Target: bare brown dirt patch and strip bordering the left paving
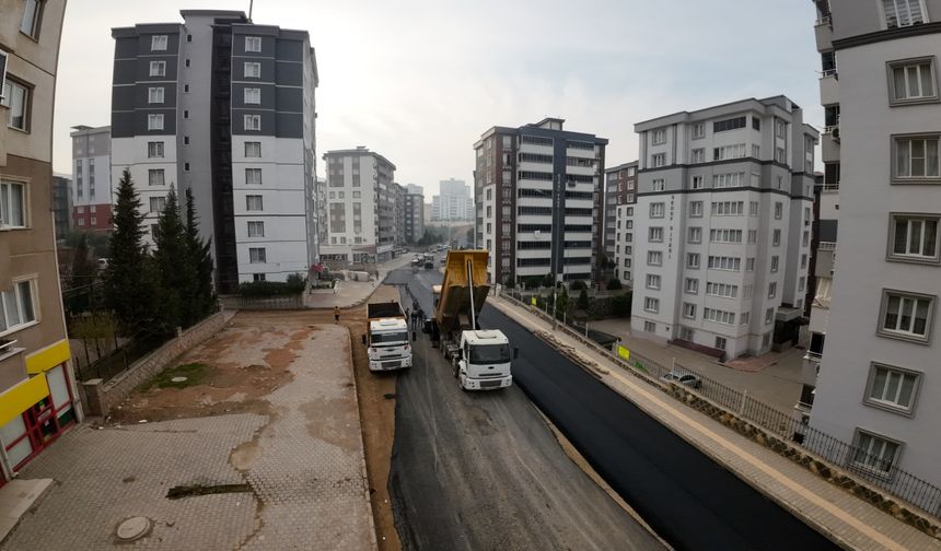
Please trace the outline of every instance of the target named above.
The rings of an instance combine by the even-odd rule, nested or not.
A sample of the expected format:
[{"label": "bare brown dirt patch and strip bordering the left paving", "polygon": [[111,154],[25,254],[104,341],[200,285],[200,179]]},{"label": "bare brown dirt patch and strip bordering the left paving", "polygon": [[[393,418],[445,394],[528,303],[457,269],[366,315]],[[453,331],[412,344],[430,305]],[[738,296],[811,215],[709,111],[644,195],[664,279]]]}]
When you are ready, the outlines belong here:
[{"label": "bare brown dirt patch and strip bordering the left paving", "polygon": [[[398,300],[394,286],[381,285],[373,301]],[[284,319],[310,324],[291,331],[279,328]],[[171,368],[202,364],[197,384],[183,383],[182,388],[153,384],[132,394],[112,422],[136,423],[140,420],[161,421],[176,418],[208,417],[226,413],[254,412],[269,414],[263,398],[291,380],[287,366],[297,357],[301,342],[316,330],[314,324],[333,323],[329,309],[306,312],[253,312],[236,315],[224,337],[217,337],[194,348],[174,362]],[[340,324],[350,331],[356,370],[360,418],[363,427],[370,499],[380,551],[399,551],[402,543],[395,531],[392,504],[388,499],[388,470],[395,437],[396,375],[373,374],[369,371],[365,347],[361,344],[365,329],[365,306],[341,310]],[[279,345],[257,349],[259,335],[266,342]],[[191,372],[191,370],[190,370]],[[187,373],[190,373],[187,372]],[[163,377],[162,380],[169,380]]]}]

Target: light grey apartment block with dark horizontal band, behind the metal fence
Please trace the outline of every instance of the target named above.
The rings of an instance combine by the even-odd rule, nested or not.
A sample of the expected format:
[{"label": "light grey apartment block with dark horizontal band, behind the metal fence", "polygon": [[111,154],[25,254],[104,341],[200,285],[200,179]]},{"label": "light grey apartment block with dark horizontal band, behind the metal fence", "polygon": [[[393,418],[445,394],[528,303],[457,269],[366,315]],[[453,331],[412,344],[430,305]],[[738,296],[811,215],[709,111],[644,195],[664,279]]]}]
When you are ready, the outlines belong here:
[{"label": "light grey apartment block with dark horizontal band, behind the metal fence", "polygon": [[639,122],[631,329],[725,357],[795,342],[817,131],[785,96]]}]

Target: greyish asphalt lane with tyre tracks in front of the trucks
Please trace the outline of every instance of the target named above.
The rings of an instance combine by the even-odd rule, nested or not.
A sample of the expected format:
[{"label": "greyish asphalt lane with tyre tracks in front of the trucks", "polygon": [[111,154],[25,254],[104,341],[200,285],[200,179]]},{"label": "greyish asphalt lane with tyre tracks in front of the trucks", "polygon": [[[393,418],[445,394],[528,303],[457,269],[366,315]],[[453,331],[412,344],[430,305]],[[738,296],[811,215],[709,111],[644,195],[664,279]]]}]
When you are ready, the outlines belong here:
[{"label": "greyish asphalt lane with tyre tracks in front of the trucks", "polygon": [[[418,290],[430,312],[429,289]],[[398,377],[390,472],[406,550],[663,549],[566,456],[519,387],[464,392],[425,335],[414,352]]]}]

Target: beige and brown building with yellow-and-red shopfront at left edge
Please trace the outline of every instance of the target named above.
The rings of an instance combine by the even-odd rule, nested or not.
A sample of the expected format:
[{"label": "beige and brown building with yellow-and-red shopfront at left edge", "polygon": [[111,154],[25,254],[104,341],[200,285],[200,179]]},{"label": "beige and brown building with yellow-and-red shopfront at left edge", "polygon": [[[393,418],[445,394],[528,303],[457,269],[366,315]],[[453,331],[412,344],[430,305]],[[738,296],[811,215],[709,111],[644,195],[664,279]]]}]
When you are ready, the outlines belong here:
[{"label": "beige and brown building with yellow-and-red shopfront at left edge", "polygon": [[0,17],[0,485],[82,419],[51,212],[65,10],[14,0]]}]

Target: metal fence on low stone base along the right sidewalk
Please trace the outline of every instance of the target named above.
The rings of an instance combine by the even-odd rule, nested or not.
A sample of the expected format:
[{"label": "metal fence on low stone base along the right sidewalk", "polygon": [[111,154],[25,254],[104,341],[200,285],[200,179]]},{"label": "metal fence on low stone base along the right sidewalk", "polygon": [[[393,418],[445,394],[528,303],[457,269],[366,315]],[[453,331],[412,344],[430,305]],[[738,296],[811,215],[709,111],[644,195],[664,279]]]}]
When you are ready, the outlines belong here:
[{"label": "metal fence on low stone base along the right sidewalk", "polygon": [[[551,308],[548,305],[542,309],[533,307],[531,297],[525,296],[516,290],[503,290],[501,296],[511,298],[511,304],[522,306],[535,313],[542,319],[553,323]],[[678,376],[693,375],[695,377],[694,382],[686,385],[692,391],[707,398],[741,419],[747,420],[785,439],[798,444],[827,462],[839,466],[841,469],[858,476],[871,485],[878,486],[930,515],[941,517],[941,489],[908,471],[899,469],[891,460],[870,454],[859,445],[848,444],[810,426],[806,423],[806,417],[800,414],[800,412],[782,412],[752,398],[748,396],[747,390],[737,390],[725,386],[675,361],[669,367],[663,366],[632,350],[629,353],[629,360],[625,360],[618,356],[616,345],[612,349],[599,345],[585,337],[583,329],[572,328],[559,319],[556,321],[559,323],[558,328],[564,332],[594,348],[596,352],[611,355],[615,363],[621,367],[638,372],[650,384],[659,385],[661,378],[669,373]]]}]

